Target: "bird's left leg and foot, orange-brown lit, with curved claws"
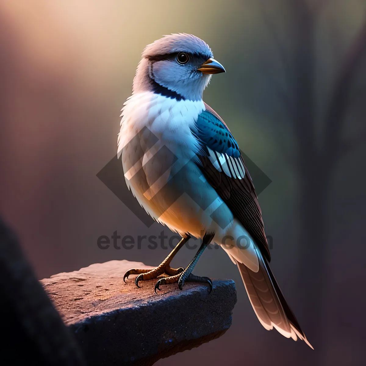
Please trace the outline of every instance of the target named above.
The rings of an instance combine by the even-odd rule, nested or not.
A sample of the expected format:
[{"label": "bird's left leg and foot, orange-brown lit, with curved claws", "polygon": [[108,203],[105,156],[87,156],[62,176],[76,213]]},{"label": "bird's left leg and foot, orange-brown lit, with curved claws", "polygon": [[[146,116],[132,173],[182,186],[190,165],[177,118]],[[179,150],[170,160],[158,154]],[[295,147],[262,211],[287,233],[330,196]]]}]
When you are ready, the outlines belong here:
[{"label": "bird's left leg and foot, orange-brown lit, with curved claws", "polygon": [[182,246],[188,241],[188,239],[190,237],[191,237],[190,235],[183,237],[180,240],[180,242],[175,246],[175,248],[171,251],[171,253],[168,255],[168,257],[165,258],[164,261],[160,265],[158,265],[156,268],[154,268],[154,269],[132,268],[124,274],[123,281],[126,282],[126,278],[128,278],[128,276],[130,276],[130,275],[139,275],[135,278],[135,284],[137,285],[137,287],[140,287],[138,285],[139,281],[152,280],[154,278],[157,278],[160,275],[163,275],[163,273],[166,273],[169,276],[174,276],[174,275],[177,275],[178,273],[183,272],[184,268],[182,268],[182,267],[177,268],[177,269],[171,268],[170,262],[172,261],[174,256],[178,253],[179,249],[182,248]]}]

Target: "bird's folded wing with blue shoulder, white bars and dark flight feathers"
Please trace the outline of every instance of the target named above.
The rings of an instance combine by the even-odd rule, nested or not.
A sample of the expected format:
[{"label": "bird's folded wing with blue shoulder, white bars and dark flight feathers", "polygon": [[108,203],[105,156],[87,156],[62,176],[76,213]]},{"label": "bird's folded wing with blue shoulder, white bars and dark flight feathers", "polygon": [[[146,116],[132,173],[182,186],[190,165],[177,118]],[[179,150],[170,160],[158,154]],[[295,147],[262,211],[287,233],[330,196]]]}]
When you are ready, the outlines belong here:
[{"label": "bird's folded wing with blue shoulder, white bars and dark flight feathers", "polygon": [[201,143],[199,167],[270,261],[258,197],[238,144],[220,116],[207,104],[205,107],[192,131]]}]

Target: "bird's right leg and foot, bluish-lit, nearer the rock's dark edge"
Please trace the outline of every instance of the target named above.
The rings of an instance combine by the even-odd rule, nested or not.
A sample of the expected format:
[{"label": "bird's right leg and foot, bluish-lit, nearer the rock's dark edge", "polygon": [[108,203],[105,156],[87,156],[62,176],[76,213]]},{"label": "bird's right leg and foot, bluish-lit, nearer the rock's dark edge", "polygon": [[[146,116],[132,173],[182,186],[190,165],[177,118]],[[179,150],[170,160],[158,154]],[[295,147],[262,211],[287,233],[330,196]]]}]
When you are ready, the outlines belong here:
[{"label": "bird's right leg and foot, bluish-lit, nearer the rock's dark edge", "polygon": [[200,276],[192,275],[192,271],[193,271],[194,266],[198,262],[198,258],[201,256],[201,254],[206,249],[208,244],[211,243],[214,235],[215,235],[214,233],[208,234],[206,232],[206,234],[203,236],[201,246],[199,247],[199,249],[198,249],[196,255],[194,256],[194,258],[192,259],[191,263],[188,264],[188,267],[182,273],[177,273],[176,275],[170,276],[170,277],[163,277],[160,280],[158,280],[155,285],[155,288],[154,288],[155,293],[157,294],[156,290],[160,290],[160,288],[159,288],[160,285],[165,285],[165,284],[170,284],[170,283],[175,283],[175,282],[178,282],[179,289],[183,290],[183,286],[186,281],[208,283],[210,285],[210,292],[211,292],[212,291],[212,281],[208,277],[200,277]]}]

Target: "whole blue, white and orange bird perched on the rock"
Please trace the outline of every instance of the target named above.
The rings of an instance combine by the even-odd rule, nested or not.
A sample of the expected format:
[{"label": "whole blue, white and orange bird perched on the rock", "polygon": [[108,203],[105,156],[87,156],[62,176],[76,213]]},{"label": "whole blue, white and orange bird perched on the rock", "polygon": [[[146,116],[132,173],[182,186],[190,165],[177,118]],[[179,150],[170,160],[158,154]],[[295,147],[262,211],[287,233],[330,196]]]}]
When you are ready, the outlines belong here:
[{"label": "whole blue, white and orange bird perched on the rock", "polygon": [[[281,335],[311,344],[269,267],[270,252],[253,181],[224,120],[202,100],[213,74],[226,72],[205,41],[187,33],[146,46],[122,108],[117,157],[127,187],[146,212],[182,239],[152,270],[132,268],[135,284],[188,281],[209,244],[221,246],[238,267],[259,322]],[[202,240],[186,267],[170,262],[191,237]],[[161,275],[164,275],[163,277]],[[158,278],[159,277],[159,278]]]}]

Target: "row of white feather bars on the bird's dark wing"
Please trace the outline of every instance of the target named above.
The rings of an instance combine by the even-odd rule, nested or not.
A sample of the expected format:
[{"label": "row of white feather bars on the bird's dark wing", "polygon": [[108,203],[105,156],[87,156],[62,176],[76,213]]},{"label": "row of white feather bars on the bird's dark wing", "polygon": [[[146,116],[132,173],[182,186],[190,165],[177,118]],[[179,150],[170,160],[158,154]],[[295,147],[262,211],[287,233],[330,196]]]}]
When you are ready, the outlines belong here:
[{"label": "row of white feather bars on the bird's dark wing", "polygon": [[207,149],[209,152],[209,159],[217,171],[224,172],[230,178],[244,178],[245,169],[242,157],[234,158],[228,156],[228,154],[221,154],[211,150],[209,147]]}]

